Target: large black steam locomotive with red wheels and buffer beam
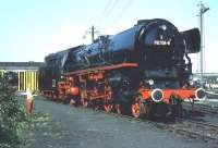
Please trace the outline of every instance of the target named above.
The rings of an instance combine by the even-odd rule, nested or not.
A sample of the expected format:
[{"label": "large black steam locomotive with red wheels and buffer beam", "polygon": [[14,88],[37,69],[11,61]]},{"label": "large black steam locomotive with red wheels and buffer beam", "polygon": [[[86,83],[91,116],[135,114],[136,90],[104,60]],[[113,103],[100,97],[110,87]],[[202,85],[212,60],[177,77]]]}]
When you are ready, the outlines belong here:
[{"label": "large black steam locomotive with red wheels and buffer beam", "polygon": [[184,99],[204,99],[192,83],[189,53],[199,51],[199,32],[179,32],[161,18],[141,20],[132,28],[101,36],[45,58],[39,89],[50,99],[107,112],[182,114]]}]

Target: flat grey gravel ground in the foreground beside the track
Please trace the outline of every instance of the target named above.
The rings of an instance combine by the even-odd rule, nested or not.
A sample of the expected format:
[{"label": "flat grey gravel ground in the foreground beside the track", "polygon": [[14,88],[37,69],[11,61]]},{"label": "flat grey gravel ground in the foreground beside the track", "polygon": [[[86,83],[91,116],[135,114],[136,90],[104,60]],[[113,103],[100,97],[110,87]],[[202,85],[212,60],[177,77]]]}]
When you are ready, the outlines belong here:
[{"label": "flat grey gravel ground in the foreground beside the track", "polygon": [[34,99],[33,123],[26,133],[28,148],[207,148],[197,139],[182,137],[156,126]]}]

